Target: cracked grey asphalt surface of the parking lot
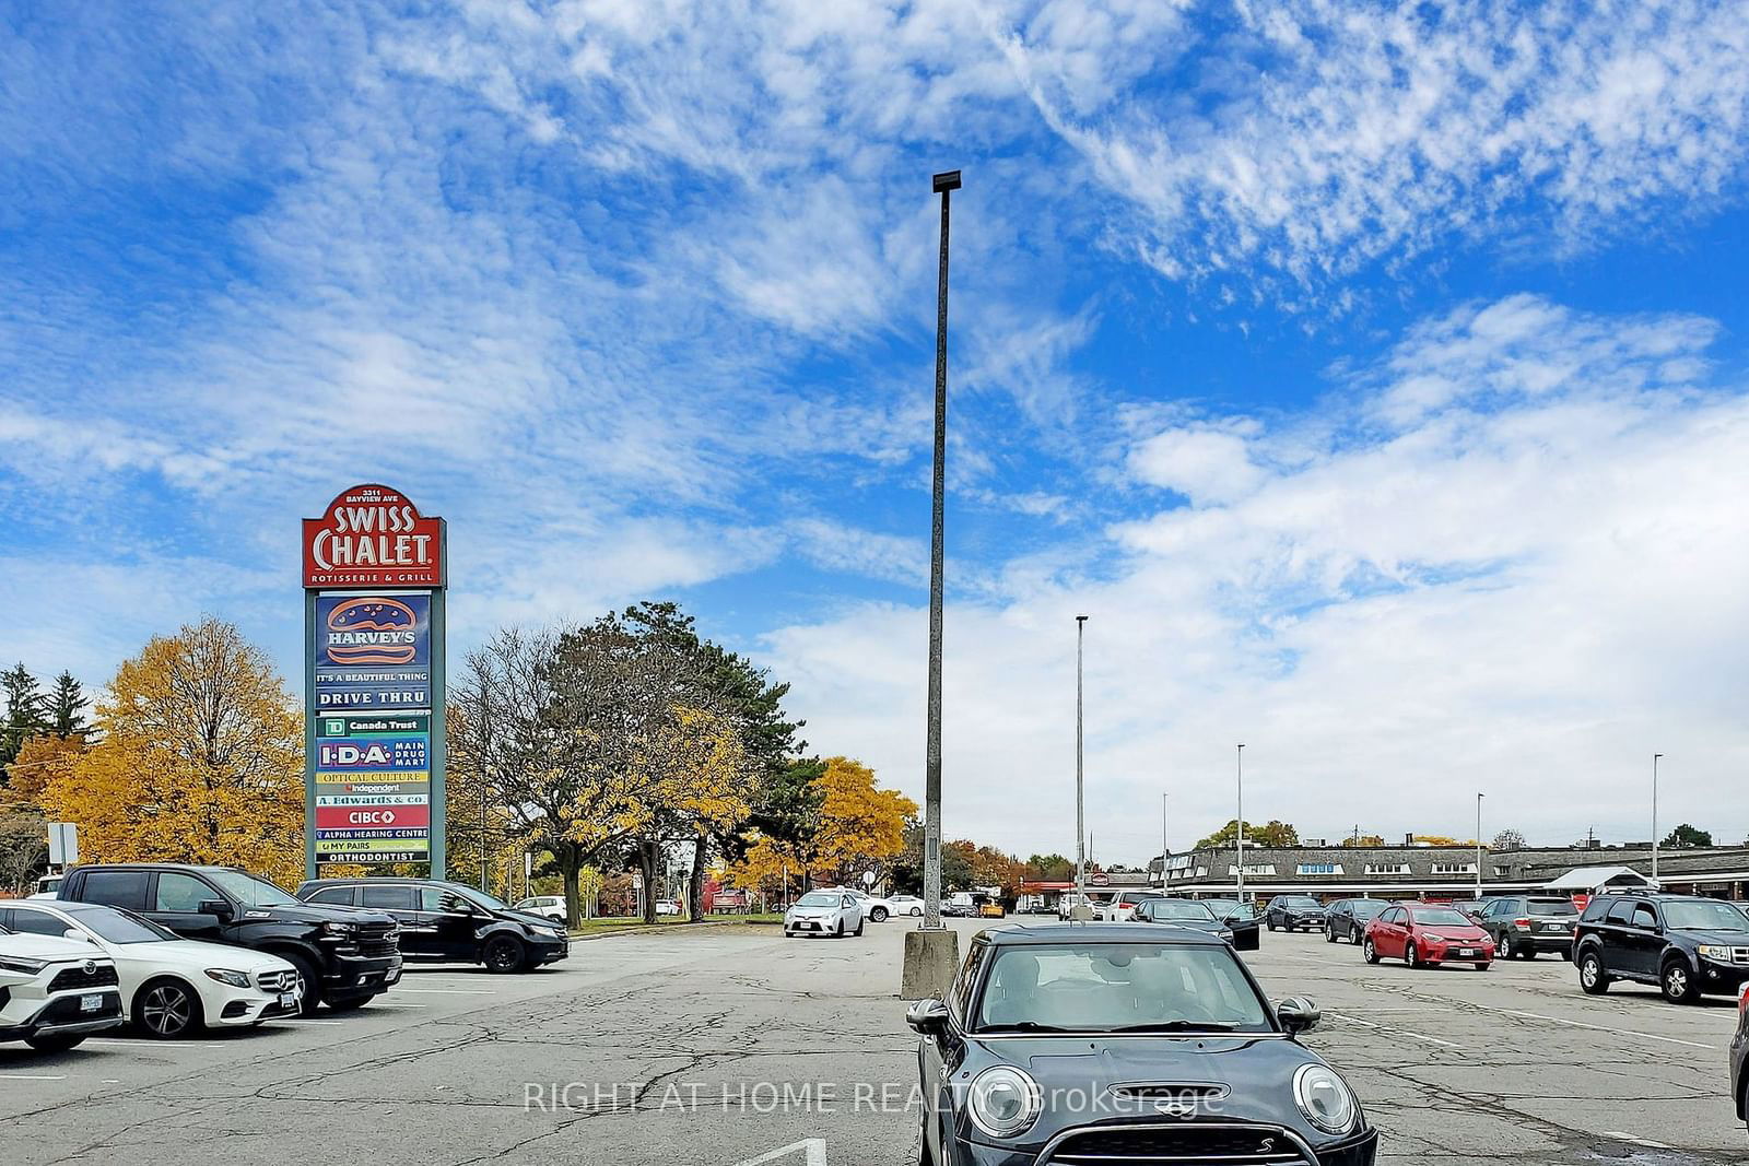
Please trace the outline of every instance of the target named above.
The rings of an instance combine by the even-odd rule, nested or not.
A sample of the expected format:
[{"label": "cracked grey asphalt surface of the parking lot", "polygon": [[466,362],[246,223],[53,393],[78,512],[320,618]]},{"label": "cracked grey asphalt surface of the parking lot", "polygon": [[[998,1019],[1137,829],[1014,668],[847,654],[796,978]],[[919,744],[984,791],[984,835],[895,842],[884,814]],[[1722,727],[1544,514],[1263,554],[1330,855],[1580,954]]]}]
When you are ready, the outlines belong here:
[{"label": "cracked grey asphalt surface of the parking lot", "polygon": [[[861,939],[675,928],[518,977],[415,968],[350,1016],[187,1044],[0,1045],[0,1163],[901,1166],[915,1040],[906,923]],[[958,921],[967,935],[972,921]],[[1383,1133],[1382,1163],[1749,1161],[1726,1098],[1730,1002],[1579,993],[1571,965],[1368,967],[1322,937],[1247,960],[1308,995],[1307,1037]]]}]

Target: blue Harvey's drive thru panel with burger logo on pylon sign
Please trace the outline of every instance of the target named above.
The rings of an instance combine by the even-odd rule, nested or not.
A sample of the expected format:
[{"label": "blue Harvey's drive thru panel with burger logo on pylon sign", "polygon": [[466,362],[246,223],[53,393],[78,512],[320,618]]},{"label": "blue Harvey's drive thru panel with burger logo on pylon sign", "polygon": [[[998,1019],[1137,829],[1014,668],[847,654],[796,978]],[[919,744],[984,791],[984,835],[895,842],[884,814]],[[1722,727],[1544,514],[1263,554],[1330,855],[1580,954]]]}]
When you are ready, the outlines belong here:
[{"label": "blue Harvey's drive thru panel with burger logo on pylon sign", "polygon": [[318,711],[430,708],[432,594],[318,594],[315,657]]}]

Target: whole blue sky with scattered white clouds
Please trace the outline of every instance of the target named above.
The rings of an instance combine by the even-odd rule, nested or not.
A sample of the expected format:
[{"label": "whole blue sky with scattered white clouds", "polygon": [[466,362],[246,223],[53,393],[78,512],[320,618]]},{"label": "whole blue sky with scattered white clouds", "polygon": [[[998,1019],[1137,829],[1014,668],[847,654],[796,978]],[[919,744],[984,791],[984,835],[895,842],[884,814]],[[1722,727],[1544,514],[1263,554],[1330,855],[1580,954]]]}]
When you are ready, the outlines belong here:
[{"label": "whole blue sky with scattered white clouds", "polygon": [[[679,598],[922,769],[955,196],[948,820],[1109,860],[1749,832],[1744,3],[0,3],[0,656],[217,612],[387,481],[455,649]],[[1411,792],[1411,794],[1406,794]]]}]

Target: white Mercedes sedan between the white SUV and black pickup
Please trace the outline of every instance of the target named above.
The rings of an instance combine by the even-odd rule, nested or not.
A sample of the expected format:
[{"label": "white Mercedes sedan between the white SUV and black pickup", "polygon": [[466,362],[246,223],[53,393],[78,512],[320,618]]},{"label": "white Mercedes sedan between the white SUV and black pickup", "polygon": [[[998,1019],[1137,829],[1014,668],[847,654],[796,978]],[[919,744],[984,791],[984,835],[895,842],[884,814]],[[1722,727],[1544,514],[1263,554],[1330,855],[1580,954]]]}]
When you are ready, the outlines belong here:
[{"label": "white Mercedes sedan between the white SUV and black pickup", "polygon": [[115,965],[122,1014],[159,1040],[203,1028],[297,1016],[297,968],[264,951],[182,939],[129,911],[87,902],[0,904],[0,927],[23,935],[79,935]]}]

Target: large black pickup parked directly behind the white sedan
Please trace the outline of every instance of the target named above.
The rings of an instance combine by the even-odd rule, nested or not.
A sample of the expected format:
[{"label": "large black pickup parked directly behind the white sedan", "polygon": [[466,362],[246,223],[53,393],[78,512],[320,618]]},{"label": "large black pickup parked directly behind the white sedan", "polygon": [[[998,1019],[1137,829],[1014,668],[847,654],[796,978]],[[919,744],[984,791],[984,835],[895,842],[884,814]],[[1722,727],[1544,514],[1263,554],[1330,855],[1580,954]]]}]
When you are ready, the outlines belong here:
[{"label": "large black pickup parked directly behind the white sedan", "polygon": [[324,1002],[357,1009],[401,979],[401,927],[390,916],[303,904],[234,867],[73,867],[59,897],[122,907],[187,939],[271,951],[297,968],[306,1016]]}]

